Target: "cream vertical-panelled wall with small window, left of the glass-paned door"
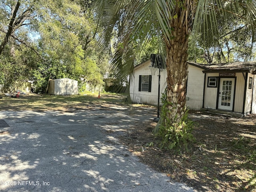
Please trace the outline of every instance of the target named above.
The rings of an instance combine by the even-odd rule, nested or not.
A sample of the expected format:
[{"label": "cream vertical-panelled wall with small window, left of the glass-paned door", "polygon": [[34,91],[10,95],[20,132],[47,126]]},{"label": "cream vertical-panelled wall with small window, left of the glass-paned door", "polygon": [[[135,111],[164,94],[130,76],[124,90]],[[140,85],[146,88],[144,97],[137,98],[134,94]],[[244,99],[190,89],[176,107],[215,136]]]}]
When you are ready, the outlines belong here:
[{"label": "cream vertical-panelled wall with small window, left of the glass-paned door", "polygon": [[216,109],[218,87],[207,87],[208,77],[218,77],[219,73],[206,73],[204,108]]}]

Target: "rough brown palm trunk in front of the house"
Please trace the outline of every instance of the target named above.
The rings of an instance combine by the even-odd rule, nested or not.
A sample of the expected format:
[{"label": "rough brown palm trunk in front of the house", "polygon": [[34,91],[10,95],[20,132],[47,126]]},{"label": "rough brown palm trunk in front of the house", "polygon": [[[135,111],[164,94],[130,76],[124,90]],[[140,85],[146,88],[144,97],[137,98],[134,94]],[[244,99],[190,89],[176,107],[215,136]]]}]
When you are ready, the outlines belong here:
[{"label": "rough brown palm trunk in front of the house", "polygon": [[[182,15],[182,12],[180,13]],[[171,21],[173,38],[167,44],[167,102],[170,122],[180,122],[186,112],[186,84],[188,78],[188,29],[178,15]]]}]

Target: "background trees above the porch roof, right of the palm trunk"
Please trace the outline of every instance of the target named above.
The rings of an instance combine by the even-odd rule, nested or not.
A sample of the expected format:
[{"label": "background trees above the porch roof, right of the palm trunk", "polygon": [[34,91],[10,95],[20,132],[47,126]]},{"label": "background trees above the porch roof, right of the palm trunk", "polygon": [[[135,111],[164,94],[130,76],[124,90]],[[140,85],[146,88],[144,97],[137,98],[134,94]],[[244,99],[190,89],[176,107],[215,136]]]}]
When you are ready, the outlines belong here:
[{"label": "background trees above the porch roof, right of the palm trunk", "polygon": [[[223,25],[219,26],[223,30],[220,30],[220,38],[214,40],[214,46],[209,44],[202,34],[190,36],[189,61],[210,64],[256,59],[256,44],[254,42],[256,34],[250,32],[245,26],[241,27],[243,26],[241,22],[229,26]],[[194,46],[194,41],[196,41],[196,46]]]}]

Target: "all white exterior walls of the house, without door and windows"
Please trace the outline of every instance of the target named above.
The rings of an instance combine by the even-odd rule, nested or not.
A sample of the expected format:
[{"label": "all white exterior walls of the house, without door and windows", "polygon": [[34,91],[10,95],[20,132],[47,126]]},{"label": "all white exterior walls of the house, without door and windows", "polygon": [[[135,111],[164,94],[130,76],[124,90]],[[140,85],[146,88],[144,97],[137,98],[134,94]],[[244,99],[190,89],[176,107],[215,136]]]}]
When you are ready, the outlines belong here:
[{"label": "all white exterior walls of the house, without door and windows", "polygon": [[[151,75],[149,69],[150,60],[144,62],[140,66],[137,66],[134,70],[134,78],[130,84],[130,96],[132,102],[134,103],[144,103],[157,105],[158,101],[158,70],[155,75],[152,75],[152,86],[151,92],[139,91],[139,76],[140,75]],[[220,81],[219,73],[206,73],[204,74],[203,69],[188,65],[188,83],[186,92],[186,105],[190,109],[200,110],[200,108],[216,109],[217,98],[218,98],[218,88],[207,87],[208,77],[217,77],[218,83]],[[166,70],[161,71],[161,81],[160,81],[160,98],[161,93],[164,92],[166,88]],[[205,83],[204,83],[205,75]],[[245,75],[245,73],[244,73]],[[252,111],[252,114],[256,114],[256,78],[255,75],[248,74],[248,82],[246,89],[246,103],[244,106],[244,112],[248,113]],[[252,89],[248,89],[249,77],[253,78]],[[244,104],[244,76],[242,72],[236,73],[236,87],[234,95],[234,112],[243,112]],[[205,85],[205,86],[204,86]],[[203,98],[204,93],[204,98]],[[204,100],[204,106],[202,106]],[[161,101],[160,101],[161,103]]]}]

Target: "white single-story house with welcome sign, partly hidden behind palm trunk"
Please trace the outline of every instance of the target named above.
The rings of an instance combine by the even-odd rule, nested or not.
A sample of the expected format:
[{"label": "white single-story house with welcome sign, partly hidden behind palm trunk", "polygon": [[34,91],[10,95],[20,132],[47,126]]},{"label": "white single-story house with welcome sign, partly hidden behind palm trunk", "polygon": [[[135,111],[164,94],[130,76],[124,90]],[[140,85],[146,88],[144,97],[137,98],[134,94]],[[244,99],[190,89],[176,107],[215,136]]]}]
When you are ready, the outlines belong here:
[{"label": "white single-story house with welcome sign, partly hidden behind palm trunk", "polygon": [[[256,114],[256,61],[221,64],[188,62],[186,104],[201,108]],[[151,74],[151,60],[134,68],[130,96],[134,103],[156,105],[158,71]],[[160,71],[160,92],[166,88],[166,71]],[[161,96],[161,95],[160,95]]]}]

